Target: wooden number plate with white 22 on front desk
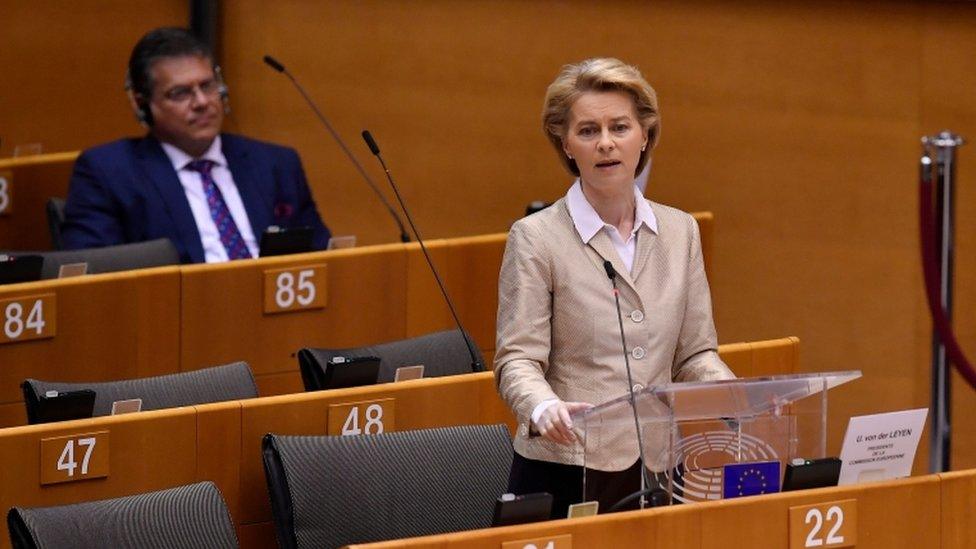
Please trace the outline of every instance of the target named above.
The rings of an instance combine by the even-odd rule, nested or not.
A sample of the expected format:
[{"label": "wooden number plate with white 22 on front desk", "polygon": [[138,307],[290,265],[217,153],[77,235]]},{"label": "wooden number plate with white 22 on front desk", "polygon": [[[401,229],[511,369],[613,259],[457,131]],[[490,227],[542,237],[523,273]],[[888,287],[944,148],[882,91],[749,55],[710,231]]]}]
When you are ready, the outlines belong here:
[{"label": "wooden number plate with white 22 on front desk", "polygon": [[857,500],[790,507],[790,549],[857,545]]}]

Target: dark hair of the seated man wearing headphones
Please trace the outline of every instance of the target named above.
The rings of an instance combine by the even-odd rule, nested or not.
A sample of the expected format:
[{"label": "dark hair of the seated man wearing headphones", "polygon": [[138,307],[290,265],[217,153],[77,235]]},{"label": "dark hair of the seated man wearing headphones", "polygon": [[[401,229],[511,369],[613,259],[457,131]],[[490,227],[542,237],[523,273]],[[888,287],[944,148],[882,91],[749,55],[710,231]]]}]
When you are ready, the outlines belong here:
[{"label": "dark hair of the seated man wearing headphones", "polygon": [[129,85],[132,91],[149,98],[153,81],[150,70],[153,64],[167,57],[199,56],[213,63],[213,52],[188,29],[162,27],[146,33],[129,57]]}]

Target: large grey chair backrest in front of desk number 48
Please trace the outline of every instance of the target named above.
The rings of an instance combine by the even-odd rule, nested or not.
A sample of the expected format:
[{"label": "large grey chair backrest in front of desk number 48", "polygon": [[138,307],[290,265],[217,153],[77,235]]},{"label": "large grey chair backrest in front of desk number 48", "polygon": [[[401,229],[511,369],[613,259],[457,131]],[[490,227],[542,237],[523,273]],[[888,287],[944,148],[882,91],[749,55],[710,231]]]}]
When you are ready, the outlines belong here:
[{"label": "large grey chair backrest in front of desk number 48", "polygon": [[487,528],[512,465],[504,425],[346,437],[269,434],[262,446],[283,549]]}]

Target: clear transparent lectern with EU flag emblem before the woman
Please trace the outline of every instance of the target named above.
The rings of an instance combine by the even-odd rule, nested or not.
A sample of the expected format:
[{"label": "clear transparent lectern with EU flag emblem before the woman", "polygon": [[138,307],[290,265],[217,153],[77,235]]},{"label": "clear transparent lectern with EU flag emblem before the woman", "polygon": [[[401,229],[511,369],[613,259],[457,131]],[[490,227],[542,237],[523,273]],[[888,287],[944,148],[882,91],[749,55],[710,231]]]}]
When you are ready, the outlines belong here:
[{"label": "clear transparent lectern with EU flag emblem before the woman", "polygon": [[[650,478],[671,503],[721,499],[725,465],[779,461],[783,470],[795,458],[825,457],[827,390],[858,377],[848,371],[648,387],[635,394],[634,407],[624,395],[574,416],[584,465],[632,466],[639,425]],[[587,476],[585,499],[592,493]]]}]

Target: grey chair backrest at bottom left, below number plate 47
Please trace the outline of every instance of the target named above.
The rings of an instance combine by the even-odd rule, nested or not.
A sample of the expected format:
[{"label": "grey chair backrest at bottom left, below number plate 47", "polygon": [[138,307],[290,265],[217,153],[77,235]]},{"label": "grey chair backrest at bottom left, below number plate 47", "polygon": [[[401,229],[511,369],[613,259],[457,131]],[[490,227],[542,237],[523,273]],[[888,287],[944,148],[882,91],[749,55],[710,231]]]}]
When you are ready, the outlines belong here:
[{"label": "grey chair backrest at bottom left, below number plate 47", "polygon": [[7,527],[14,549],[238,547],[230,512],[212,482],[57,507],[14,507]]}]

